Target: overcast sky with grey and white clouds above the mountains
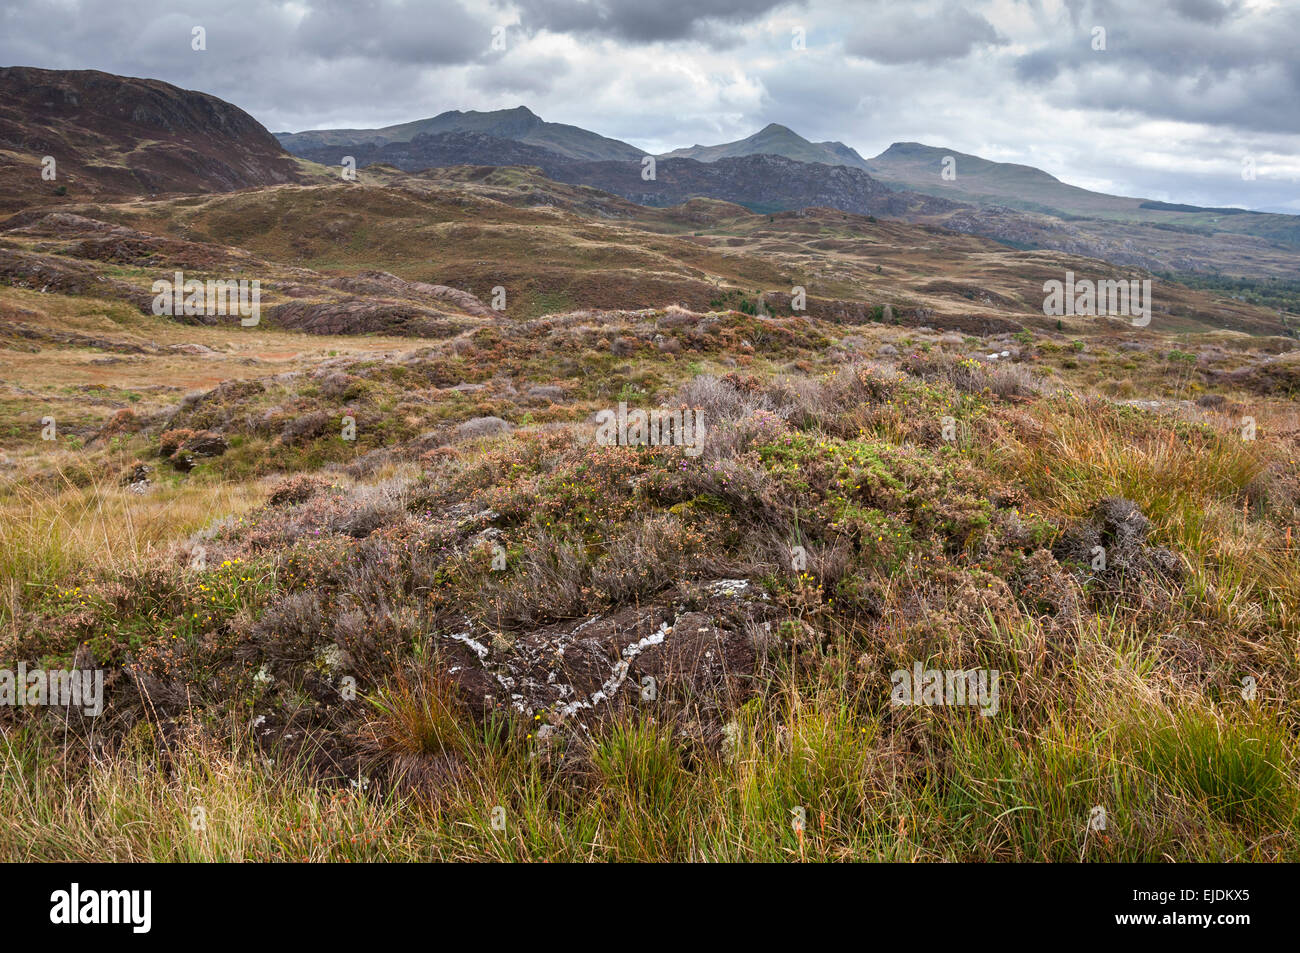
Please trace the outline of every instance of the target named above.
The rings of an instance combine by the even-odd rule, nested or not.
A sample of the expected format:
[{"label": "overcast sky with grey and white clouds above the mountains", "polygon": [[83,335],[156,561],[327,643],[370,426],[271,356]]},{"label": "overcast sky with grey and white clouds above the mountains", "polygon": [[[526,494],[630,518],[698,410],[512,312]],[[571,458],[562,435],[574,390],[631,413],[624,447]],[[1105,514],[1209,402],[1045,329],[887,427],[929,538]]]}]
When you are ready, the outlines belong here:
[{"label": "overcast sky with grey and white clouds above the mountains", "polygon": [[4,0],[0,65],[164,79],[272,131],[523,104],[663,152],[781,122],[1300,212],[1297,0]]}]

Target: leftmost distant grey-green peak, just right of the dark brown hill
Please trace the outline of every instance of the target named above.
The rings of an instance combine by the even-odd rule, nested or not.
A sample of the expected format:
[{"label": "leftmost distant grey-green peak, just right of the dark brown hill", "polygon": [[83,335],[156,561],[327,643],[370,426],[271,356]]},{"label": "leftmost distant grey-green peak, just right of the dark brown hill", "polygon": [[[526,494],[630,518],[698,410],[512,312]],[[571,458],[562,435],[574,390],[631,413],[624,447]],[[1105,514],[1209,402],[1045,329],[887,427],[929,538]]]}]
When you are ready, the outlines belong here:
[{"label": "leftmost distant grey-green peak, just right of the dark brown hill", "polygon": [[[566,159],[640,159],[645,155],[636,146],[618,139],[590,133],[577,126],[562,122],[546,122],[526,107],[498,109],[494,112],[460,112],[452,109],[429,120],[403,122],[382,129],[317,129],[307,133],[277,133],[280,143],[298,156],[317,156],[325,153],[326,165],[338,165],[341,148],[355,150],[360,146],[386,146],[390,143],[412,142],[420,135],[439,133],[472,133],[510,139],[545,148]],[[355,152],[352,153],[355,155]]]}]

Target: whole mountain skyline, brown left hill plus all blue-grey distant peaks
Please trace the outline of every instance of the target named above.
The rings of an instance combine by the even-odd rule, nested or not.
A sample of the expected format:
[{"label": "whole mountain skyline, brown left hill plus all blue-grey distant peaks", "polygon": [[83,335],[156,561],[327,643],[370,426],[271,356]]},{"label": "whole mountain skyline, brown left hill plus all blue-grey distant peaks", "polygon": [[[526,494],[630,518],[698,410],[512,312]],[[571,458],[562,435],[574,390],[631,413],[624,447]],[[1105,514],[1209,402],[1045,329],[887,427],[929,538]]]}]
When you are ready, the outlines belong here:
[{"label": "whole mountain skyline, brown left hill plus all blue-grey distant peaks", "polygon": [[[536,166],[556,182],[651,207],[694,198],[763,213],[824,207],[1153,272],[1290,281],[1300,274],[1300,216],[1104,195],[1041,169],[922,143],[894,143],[863,159],[844,143],[810,142],[772,124],[736,142],[655,156],[651,174],[642,150],[546,122],[524,107],[273,137],[229,103],[152,79],[0,69],[0,213],[337,181],[348,155],[360,168],[408,173]],[[56,159],[57,178],[42,177],[46,156]],[[956,172],[952,181],[942,176],[945,165]]]}]

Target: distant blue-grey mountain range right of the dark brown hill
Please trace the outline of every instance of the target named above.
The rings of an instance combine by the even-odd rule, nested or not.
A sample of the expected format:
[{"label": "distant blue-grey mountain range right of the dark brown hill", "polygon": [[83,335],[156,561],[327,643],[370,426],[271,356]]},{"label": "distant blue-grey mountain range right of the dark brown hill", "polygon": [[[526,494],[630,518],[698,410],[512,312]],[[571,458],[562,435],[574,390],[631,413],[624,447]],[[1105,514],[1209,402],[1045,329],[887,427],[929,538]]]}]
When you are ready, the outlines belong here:
[{"label": "distant blue-grey mountain range right of the dark brown hill", "polygon": [[[634,146],[545,122],[524,107],[448,112],[384,129],[282,133],[278,138],[290,152],[324,165],[337,165],[343,155],[351,155],[359,166],[382,163],[404,172],[532,165],[556,181],[593,186],[641,204],[670,205],[697,196],[725,199],[758,212],[826,204],[1153,270],[1213,269],[1210,243],[1216,235],[1300,248],[1300,216],[1105,195],[1030,165],[994,163],[923,143],[894,143],[879,156],[863,159],[841,142],[810,142],[775,122],[736,142],[659,155],[654,179],[642,174],[647,153]],[[758,156],[802,165],[794,174],[780,164],[738,161]],[[950,176],[944,176],[945,169]],[[1153,228],[1166,234],[1154,235]],[[1187,239],[1170,242],[1167,233]],[[1232,269],[1258,270],[1249,264],[1257,254],[1251,242],[1234,239],[1231,244],[1235,247],[1225,261],[1231,261]]]}]

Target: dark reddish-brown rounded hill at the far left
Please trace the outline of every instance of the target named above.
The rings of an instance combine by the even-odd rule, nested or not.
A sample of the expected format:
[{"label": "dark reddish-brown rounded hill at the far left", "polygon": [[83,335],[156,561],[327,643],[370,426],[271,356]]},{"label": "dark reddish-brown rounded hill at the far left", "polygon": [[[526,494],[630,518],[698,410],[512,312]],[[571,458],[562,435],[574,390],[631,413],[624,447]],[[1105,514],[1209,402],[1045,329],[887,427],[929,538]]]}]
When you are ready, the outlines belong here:
[{"label": "dark reddish-brown rounded hill at the far left", "polygon": [[98,70],[0,69],[0,209],[299,178],[260,122],[216,96]]}]

